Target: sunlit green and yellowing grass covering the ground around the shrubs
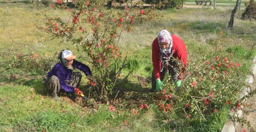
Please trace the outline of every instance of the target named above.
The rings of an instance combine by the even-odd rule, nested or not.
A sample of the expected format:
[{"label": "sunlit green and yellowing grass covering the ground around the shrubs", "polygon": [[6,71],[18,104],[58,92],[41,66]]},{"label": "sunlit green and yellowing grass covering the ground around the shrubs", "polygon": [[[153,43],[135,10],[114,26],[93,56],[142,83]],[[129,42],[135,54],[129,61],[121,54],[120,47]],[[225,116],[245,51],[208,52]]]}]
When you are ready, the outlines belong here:
[{"label": "sunlit green and yellowing grass covering the ground around the shrubs", "polygon": [[[6,0],[5,0],[6,1]],[[0,51],[10,54],[35,54],[43,57],[52,57],[57,62],[57,54],[61,49],[69,48],[78,56],[78,60],[89,64],[88,58],[82,51],[77,51],[76,45],[68,42],[60,43],[59,39],[51,40],[48,34],[36,28],[43,25],[41,11],[26,3],[6,3],[0,5]],[[65,19],[67,11],[47,11],[49,15],[60,16]],[[26,66],[2,71],[6,67],[0,66],[0,130],[11,131],[42,131],[46,132],[170,132],[172,124],[164,123],[155,104],[150,105],[148,112],[131,115],[130,108],[137,109],[133,100],[143,100],[151,88],[150,77],[152,72],[151,43],[161,29],[183,38],[187,46],[189,58],[207,56],[210,50],[219,45],[228,53],[233,53],[234,60],[241,62],[244,76],[251,66],[251,59],[256,55],[255,23],[239,20],[242,11],[237,12],[234,30],[226,30],[231,10],[211,9],[183,9],[155,11],[164,17],[157,22],[137,25],[133,32],[124,33],[120,39],[120,47],[128,52],[128,66],[123,72],[134,69],[133,75],[124,83],[125,100],[116,104],[116,112],[108,111],[108,105],[101,104],[97,112],[80,106],[75,102],[54,102],[44,93],[42,86],[43,73],[30,71]],[[208,17],[205,17],[208,16]],[[223,37],[220,32],[224,31]],[[12,39],[24,46],[12,42]],[[0,52],[1,54],[1,52]],[[6,58],[0,57],[0,64],[9,64]],[[203,60],[198,60],[202,63]],[[28,72],[29,71],[29,72]],[[15,79],[14,76],[18,78]],[[140,80],[142,77],[144,80]],[[142,84],[142,82],[144,82]],[[87,88],[85,77],[82,78],[82,88]],[[46,97],[45,97],[46,96]],[[127,109],[130,107],[129,109]],[[155,108],[155,109],[154,109]],[[64,110],[64,112],[63,112]],[[117,113],[117,111],[121,113]],[[191,128],[180,128],[180,132],[220,132],[229,108],[222,108],[217,114],[211,115],[207,121],[195,121]],[[177,116],[177,115],[171,115]],[[127,121],[127,123],[126,123]],[[73,124],[74,123],[74,124]]]}]

